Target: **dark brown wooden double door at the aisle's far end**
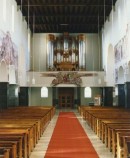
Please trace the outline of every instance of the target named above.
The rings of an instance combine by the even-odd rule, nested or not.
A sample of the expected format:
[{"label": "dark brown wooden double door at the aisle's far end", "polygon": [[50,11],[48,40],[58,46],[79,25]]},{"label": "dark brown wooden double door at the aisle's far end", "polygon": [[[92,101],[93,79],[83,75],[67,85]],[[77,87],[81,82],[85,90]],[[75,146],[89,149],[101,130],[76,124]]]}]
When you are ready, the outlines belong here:
[{"label": "dark brown wooden double door at the aisle's far end", "polygon": [[59,89],[59,107],[72,108],[74,104],[74,89],[60,88]]}]

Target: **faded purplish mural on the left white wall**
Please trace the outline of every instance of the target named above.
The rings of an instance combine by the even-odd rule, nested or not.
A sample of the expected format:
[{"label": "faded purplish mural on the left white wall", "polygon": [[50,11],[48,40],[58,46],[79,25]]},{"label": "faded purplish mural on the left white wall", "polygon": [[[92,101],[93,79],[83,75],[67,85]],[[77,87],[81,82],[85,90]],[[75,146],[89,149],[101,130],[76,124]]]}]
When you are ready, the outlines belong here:
[{"label": "faded purplish mural on the left white wall", "polygon": [[0,62],[4,60],[6,65],[15,67],[16,82],[18,81],[18,48],[12,41],[10,32],[0,30]]}]

